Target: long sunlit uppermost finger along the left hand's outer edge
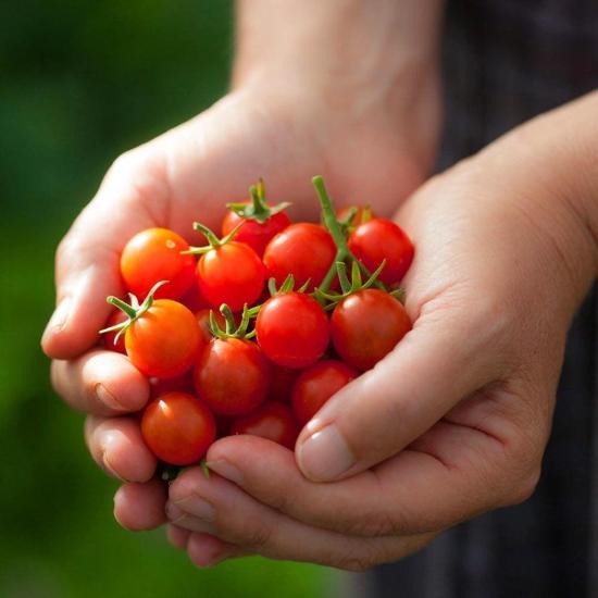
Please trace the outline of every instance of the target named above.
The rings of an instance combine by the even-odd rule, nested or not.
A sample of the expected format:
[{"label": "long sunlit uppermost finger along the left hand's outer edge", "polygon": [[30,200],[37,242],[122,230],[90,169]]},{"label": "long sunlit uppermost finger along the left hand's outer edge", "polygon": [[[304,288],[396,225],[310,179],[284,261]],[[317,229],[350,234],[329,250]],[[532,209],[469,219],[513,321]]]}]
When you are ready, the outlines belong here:
[{"label": "long sunlit uppermost finger along the left hand's outer edge", "polygon": [[155,226],[151,210],[165,204],[160,154],[127,155],[115,162],[58,248],[57,307],[41,338],[51,358],[71,359],[97,342],[113,309],[105,298],[124,291],[122,248],[135,233]]}]

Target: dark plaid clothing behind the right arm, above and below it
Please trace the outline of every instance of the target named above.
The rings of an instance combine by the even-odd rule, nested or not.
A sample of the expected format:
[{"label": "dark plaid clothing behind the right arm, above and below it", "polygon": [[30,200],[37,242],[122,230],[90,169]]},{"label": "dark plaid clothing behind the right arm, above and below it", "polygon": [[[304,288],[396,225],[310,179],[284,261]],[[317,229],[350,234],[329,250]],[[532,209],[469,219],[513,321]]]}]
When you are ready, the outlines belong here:
[{"label": "dark plaid clothing behind the right arm, above and below it", "polygon": [[[440,167],[598,87],[598,0],[448,0],[444,46]],[[378,568],[360,580],[366,596],[598,597],[595,299],[587,299],[571,329],[534,497]]]}]

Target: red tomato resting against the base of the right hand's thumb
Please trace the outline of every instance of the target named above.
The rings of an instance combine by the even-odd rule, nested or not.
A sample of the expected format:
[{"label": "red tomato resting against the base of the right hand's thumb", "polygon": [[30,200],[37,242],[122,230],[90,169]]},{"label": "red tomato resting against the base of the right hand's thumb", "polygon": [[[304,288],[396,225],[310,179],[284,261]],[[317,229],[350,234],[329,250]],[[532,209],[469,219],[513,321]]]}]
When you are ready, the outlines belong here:
[{"label": "red tomato resting against the base of the right hand's thumb", "polygon": [[336,352],[361,371],[373,367],[410,329],[411,321],[400,301],[372,288],[342,299],[331,319]]}]

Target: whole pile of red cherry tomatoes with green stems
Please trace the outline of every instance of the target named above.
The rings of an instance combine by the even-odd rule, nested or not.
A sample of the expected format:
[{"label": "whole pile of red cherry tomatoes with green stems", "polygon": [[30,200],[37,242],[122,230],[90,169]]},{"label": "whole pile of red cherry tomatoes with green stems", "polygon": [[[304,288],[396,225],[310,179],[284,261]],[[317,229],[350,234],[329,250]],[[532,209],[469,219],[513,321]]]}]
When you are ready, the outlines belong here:
[{"label": "whole pile of red cherry tomatoes with green stems", "polygon": [[[105,346],[151,384],[144,439],[164,463],[199,462],[217,438],[253,434],[292,448],[300,426],[411,328],[400,302],[413,246],[366,208],[335,212],[313,179],[322,224],[291,223],[263,184],[227,204],[203,247],[165,228],[121,256],[130,302],[109,297]],[[199,259],[198,259],[199,257]]]}]

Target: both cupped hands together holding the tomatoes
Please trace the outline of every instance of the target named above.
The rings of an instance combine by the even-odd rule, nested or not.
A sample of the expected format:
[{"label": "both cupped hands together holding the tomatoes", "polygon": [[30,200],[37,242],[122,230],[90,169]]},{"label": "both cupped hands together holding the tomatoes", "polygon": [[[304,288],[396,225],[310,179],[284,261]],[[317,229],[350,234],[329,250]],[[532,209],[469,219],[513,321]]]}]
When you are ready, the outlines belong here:
[{"label": "both cupped hands together holding the tomatoes", "polygon": [[[116,160],[60,244],[42,347],[55,390],[87,413],[92,458],[122,482],[124,527],[167,523],[170,541],[201,566],[258,553],[363,570],[524,500],[538,482],[566,331],[588,285],[575,265],[578,214],[547,172],[550,120],[564,116],[424,183],[428,160],[401,123],[267,102],[233,92]],[[315,174],[339,204],[385,216],[398,207],[415,246],[403,281],[413,329],[325,404],[295,453],[223,438],[208,452],[209,478],[191,468],[167,487],[132,415],[148,382],[98,348],[105,297],[123,294],[120,252],[150,226],[188,237],[195,220],[217,225],[259,176],[273,201],[294,202],[291,215],[316,220]]]}]

